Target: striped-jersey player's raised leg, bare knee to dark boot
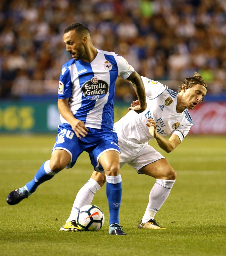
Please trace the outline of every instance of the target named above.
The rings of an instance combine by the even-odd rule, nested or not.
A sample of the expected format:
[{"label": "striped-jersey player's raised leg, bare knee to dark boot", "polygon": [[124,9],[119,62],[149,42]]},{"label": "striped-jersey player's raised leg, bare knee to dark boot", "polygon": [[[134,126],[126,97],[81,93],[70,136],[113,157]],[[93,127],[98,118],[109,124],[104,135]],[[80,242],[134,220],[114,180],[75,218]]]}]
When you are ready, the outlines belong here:
[{"label": "striped-jersey player's raised leg, bare knee to dark boot", "polygon": [[[68,152],[65,150],[55,151],[51,156],[51,160],[48,160],[41,165],[31,181],[29,181],[24,187],[9,193],[6,199],[9,205],[16,205],[20,203],[20,201],[22,201],[24,198],[28,198],[28,196],[35,192],[41,183],[52,179],[55,174],[57,174],[68,164],[68,162],[70,162],[71,156]],[[57,156],[59,157],[57,158]]]}]

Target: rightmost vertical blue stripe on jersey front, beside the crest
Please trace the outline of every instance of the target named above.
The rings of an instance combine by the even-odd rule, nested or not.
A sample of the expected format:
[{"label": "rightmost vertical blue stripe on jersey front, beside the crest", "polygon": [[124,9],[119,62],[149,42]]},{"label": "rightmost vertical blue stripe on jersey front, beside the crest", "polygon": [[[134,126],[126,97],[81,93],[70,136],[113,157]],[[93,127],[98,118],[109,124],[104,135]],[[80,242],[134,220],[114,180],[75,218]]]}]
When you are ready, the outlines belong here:
[{"label": "rightmost vertical blue stripe on jersey front, beside the crest", "polygon": [[106,129],[106,128],[112,129],[112,126],[114,123],[114,104],[113,104],[113,98],[115,94],[114,85],[118,77],[118,65],[113,55],[104,54],[104,57],[107,61],[109,61],[112,64],[112,69],[109,71],[110,73],[109,95],[108,95],[108,101],[103,108],[101,129]]}]

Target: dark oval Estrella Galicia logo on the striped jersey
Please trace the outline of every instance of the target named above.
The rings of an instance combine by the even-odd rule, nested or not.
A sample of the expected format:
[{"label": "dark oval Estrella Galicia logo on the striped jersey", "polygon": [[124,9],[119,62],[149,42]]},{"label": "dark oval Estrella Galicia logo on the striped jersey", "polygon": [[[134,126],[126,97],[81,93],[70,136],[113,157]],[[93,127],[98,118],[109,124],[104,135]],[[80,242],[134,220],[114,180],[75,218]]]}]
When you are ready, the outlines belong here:
[{"label": "dark oval Estrella Galicia logo on the striped jersey", "polygon": [[107,94],[108,88],[109,86],[105,81],[93,77],[81,86],[81,91],[85,98],[89,100],[98,100]]}]

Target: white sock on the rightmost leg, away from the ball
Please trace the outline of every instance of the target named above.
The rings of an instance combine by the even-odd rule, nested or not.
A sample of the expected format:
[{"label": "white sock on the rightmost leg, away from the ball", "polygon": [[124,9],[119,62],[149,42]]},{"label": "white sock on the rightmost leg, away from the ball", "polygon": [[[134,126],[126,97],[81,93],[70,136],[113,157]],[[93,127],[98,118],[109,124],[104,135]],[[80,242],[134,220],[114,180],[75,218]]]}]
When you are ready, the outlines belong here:
[{"label": "white sock on the rightmost leg, away from the ball", "polygon": [[143,223],[148,222],[150,219],[154,219],[156,212],[166,201],[174,182],[175,180],[156,179],[156,183],[149,194],[149,202],[142,219]]}]

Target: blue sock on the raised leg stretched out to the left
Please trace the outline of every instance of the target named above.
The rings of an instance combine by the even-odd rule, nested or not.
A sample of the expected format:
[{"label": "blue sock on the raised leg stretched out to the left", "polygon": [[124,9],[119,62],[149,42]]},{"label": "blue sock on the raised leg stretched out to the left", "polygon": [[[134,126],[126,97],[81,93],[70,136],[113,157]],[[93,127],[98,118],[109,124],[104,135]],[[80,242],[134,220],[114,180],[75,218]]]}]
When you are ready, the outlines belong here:
[{"label": "blue sock on the raised leg stretched out to the left", "polygon": [[42,166],[39,168],[39,170],[37,171],[37,173],[35,174],[34,178],[29,181],[27,184],[26,184],[26,187],[28,189],[28,191],[30,193],[34,193],[35,190],[37,189],[37,187],[43,183],[44,181],[47,181],[49,179],[52,179],[53,178],[53,172],[51,172],[52,175],[49,175],[45,172],[45,169],[44,169],[44,164],[46,162],[44,162],[42,164]]}]

